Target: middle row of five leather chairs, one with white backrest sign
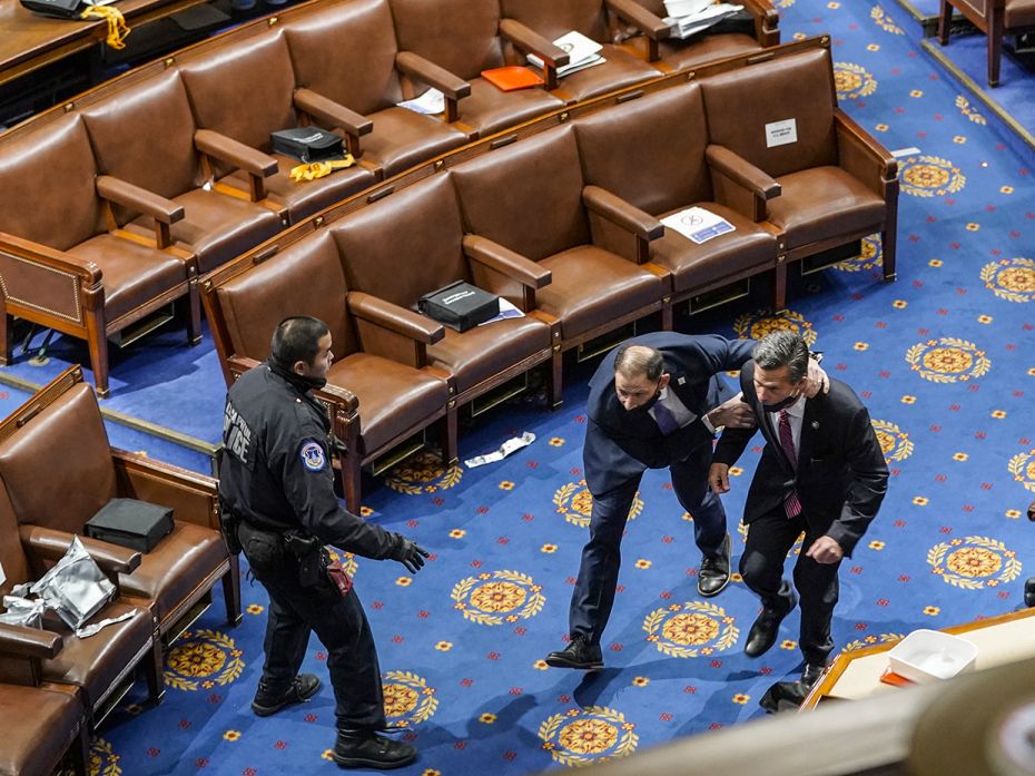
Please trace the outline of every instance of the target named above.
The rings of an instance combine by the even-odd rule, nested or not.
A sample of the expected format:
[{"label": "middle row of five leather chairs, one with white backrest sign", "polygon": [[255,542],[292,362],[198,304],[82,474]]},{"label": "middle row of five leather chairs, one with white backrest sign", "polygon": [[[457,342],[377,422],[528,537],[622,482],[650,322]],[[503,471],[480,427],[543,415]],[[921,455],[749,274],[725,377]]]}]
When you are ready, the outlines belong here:
[{"label": "middle row of five leather chairs, one with white backrest sign", "polygon": [[[654,313],[670,328],[678,302],[768,274],[780,307],[789,263],[876,232],[894,278],[897,166],[836,107],[828,47],[584,105],[294,227],[205,284],[227,382],[286,315],[327,321],[322,397],[357,509],[362,465],[440,419],[455,460],[457,407],[543,363],[556,406],[565,351]],[[659,222],[691,206],[735,229],[698,245]],[[460,333],[414,312],[457,279],[526,316]]]}]

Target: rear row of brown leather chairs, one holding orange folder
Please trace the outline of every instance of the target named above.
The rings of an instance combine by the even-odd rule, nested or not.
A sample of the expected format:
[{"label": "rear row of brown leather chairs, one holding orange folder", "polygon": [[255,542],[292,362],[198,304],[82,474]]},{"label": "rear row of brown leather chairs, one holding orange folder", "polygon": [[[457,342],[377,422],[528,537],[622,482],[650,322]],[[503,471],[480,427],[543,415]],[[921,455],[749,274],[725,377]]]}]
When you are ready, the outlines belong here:
[{"label": "rear row of brown leather chairs, one holding orange folder", "polygon": [[[386,177],[673,67],[779,42],[769,0],[753,35],[668,41],[660,0],[323,0],[233,30],[98,87],[0,137],[0,362],[10,317],[86,340],[100,395],[107,337],[177,303],[200,338],[197,278]],[[579,30],[607,62],[556,79],[551,40]],[[635,33],[635,35],[633,35]],[[619,39],[622,42],[612,43]],[[548,85],[479,75],[538,52]],[[434,86],[443,116],[396,106]],[[313,122],[359,159],[296,184],[269,132]]]}]

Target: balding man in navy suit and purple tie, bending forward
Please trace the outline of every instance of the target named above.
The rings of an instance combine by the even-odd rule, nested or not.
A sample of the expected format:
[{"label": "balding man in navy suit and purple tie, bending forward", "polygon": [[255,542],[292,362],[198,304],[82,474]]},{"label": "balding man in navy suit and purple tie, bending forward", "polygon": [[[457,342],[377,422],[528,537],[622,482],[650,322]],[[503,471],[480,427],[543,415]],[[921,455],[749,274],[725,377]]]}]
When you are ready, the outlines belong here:
[{"label": "balding man in navy suit and purple tie, bending forward", "polygon": [[593,497],[569,615],[569,646],[546,656],[559,668],[603,666],[600,637],[614,602],[620,543],[645,469],[668,466],[679,503],[693,515],[703,553],[698,592],[729,582],[730,539],[722,502],[708,488],[717,426],[753,424],[750,409],[718,374],[740,369],[753,341],[672,332],[645,334],[610,353],[590,381],[583,461]]}]

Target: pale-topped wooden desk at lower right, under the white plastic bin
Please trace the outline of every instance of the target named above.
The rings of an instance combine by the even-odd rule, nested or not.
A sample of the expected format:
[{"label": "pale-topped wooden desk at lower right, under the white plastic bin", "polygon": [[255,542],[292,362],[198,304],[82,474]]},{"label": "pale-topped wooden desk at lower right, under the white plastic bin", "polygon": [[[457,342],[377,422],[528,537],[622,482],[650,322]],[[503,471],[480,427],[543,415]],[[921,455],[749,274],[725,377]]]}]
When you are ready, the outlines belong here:
[{"label": "pale-topped wooden desk at lower right, under the white plastic bin", "polygon": [[[977,647],[975,668],[993,668],[1035,656],[1035,609],[1012,611],[942,629],[963,636]],[[888,667],[887,651],[898,641],[841,652],[809,692],[801,709],[835,700],[858,700],[901,691],[880,681]]]}]

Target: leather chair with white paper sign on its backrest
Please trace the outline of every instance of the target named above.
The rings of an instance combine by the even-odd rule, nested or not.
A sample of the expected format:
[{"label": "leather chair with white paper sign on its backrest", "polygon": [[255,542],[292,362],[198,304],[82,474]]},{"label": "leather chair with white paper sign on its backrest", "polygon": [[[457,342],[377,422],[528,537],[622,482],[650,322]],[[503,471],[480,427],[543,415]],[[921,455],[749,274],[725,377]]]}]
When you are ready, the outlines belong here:
[{"label": "leather chair with white paper sign on its backrest", "polygon": [[766,203],[779,240],[777,310],[788,263],[877,232],[884,277],[895,279],[898,164],[837,107],[828,49],[749,65],[701,87],[709,159],[736,155],[736,167],[747,175],[753,166],[762,188],[779,186],[780,196]]}]

